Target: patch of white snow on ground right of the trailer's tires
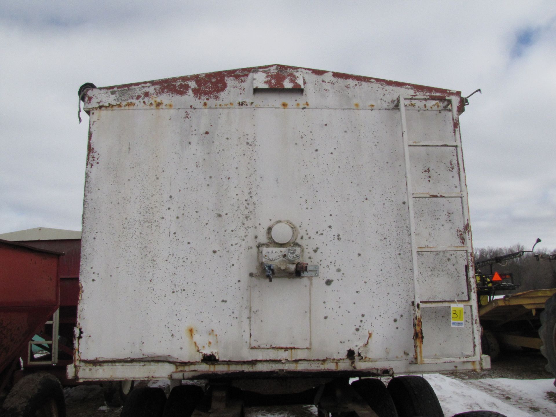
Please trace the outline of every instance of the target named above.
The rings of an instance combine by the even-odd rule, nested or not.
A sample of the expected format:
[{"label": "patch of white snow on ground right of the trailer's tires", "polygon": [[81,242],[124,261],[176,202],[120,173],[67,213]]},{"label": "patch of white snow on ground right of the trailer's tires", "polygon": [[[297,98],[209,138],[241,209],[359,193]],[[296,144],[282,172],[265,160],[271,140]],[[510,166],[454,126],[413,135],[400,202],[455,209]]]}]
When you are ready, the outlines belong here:
[{"label": "patch of white snow on ground right of the trailer's tires", "polygon": [[[446,416],[472,410],[498,411],[508,417],[554,416],[553,379],[469,379],[423,375],[433,386]],[[548,394],[551,393],[551,394]]]}]

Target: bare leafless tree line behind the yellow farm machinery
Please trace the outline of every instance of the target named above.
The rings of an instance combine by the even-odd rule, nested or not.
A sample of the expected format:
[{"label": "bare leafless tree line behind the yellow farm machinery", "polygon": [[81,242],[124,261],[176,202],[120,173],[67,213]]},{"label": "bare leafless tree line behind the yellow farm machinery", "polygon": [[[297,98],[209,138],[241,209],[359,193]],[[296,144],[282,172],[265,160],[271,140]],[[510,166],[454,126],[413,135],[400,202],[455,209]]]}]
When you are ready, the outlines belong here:
[{"label": "bare leafless tree line behind the yellow farm machinery", "polygon": [[[480,247],[474,250],[475,262],[523,250],[530,250],[530,247],[525,248],[521,244],[507,247]],[[556,288],[556,261],[537,260],[534,255],[538,254],[556,254],[556,249],[549,250],[535,247],[534,254],[525,253],[517,259],[508,260],[502,264],[493,264],[493,273],[513,274],[514,284],[520,285],[517,290],[502,292],[501,294]],[[480,272],[490,274],[490,267],[488,265],[482,266]]]}]

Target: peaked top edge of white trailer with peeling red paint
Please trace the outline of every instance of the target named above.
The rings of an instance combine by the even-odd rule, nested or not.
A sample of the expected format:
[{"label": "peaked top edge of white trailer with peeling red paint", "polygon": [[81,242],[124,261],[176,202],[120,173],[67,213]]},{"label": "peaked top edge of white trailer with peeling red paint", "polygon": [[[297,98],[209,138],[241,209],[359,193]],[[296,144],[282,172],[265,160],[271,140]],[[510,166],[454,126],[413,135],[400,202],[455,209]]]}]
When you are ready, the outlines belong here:
[{"label": "peaked top edge of white trailer with peeling red paint", "polygon": [[286,108],[288,104],[292,108],[291,100],[289,103],[272,102],[266,97],[255,96],[255,92],[265,89],[299,92],[307,85],[311,88],[306,89],[301,102],[294,101],[294,106],[378,110],[395,107],[392,97],[403,95],[430,100],[459,97],[458,112],[464,109],[461,92],[455,90],[281,64],[93,88],[82,100],[86,110],[238,106]]}]

